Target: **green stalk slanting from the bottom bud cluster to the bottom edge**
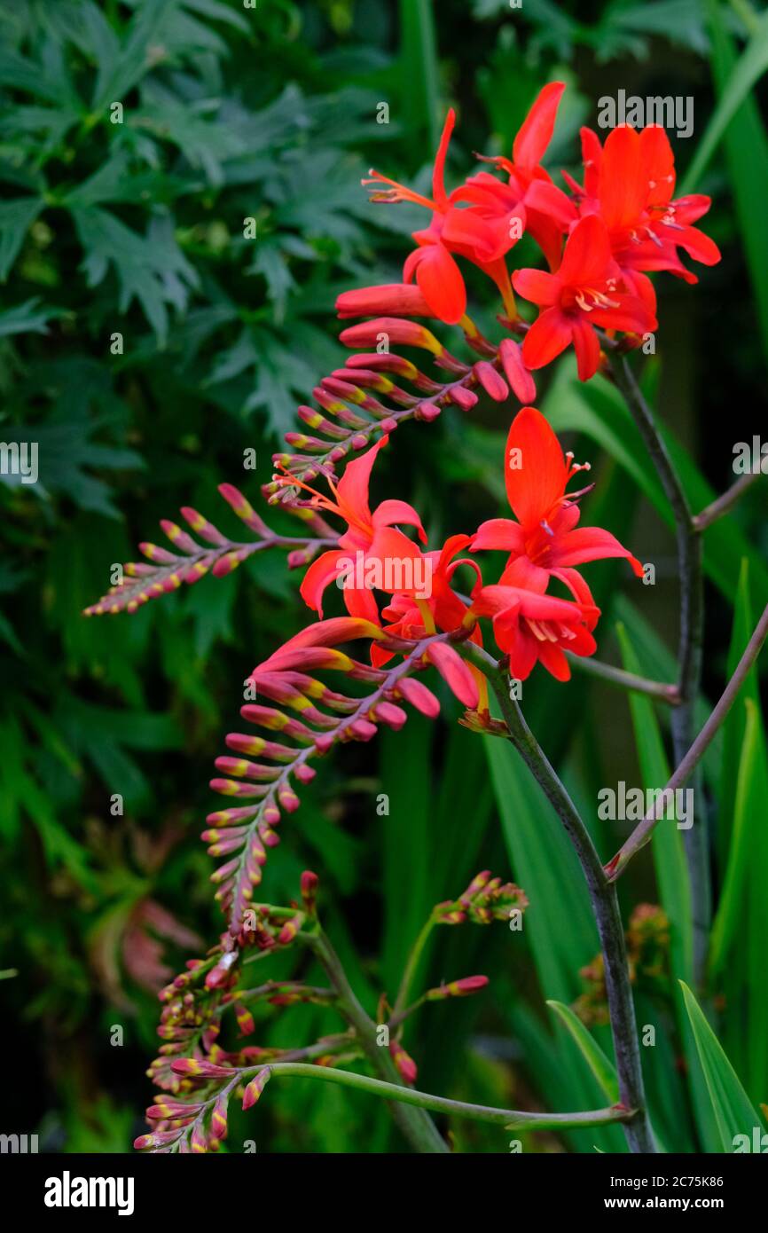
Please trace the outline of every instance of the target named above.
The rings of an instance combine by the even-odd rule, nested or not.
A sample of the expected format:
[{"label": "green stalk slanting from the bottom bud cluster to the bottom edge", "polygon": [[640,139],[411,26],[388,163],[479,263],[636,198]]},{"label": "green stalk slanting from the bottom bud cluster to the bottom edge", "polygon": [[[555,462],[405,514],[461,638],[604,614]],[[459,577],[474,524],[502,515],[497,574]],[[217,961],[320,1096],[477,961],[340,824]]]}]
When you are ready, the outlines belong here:
[{"label": "green stalk slanting from the bottom bud cluster to the bottom edge", "polygon": [[[385,1086],[394,1089],[398,1092],[409,1092],[411,1089],[403,1085],[390,1051],[376,1043],[376,1023],[366,1015],[357,1001],[346,979],[346,973],[341,967],[341,961],[332,947],[327,935],[318,928],[317,932],[306,935],[306,942],[328,973],[330,983],[338,994],[337,1006],[350,1027],[355,1028],[360,1048],[377,1074],[381,1075]],[[307,1070],[319,1069],[318,1067],[307,1067]],[[369,1081],[376,1083],[377,1080]],[[425,1105],[419,1105],[418,1101],[408,1101],[403,1095],[398,1095],[396,1100],[390,1101],[390,1112],[408,1143],[417,1152],[435,1154],[449,1150],[445,1139],[427,1112]]]}]

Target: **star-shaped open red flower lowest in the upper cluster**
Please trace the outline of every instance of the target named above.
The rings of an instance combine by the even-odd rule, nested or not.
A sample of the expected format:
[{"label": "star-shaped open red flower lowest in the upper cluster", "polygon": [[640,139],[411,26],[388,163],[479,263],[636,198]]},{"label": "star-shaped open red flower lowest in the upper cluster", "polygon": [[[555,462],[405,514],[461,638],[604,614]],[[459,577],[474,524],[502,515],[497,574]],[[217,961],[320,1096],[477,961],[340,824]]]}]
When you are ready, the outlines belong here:
[{"label": "star-shaped open red flower lowest in the upper cluster", "polygon": [[597,215],[576,224],[557,274],[518,270],[512,282],[541,309],[523,343],[529,369],[544,367],[573,343],[579,379],[588,381],[600,363],[595,326],[630,334],[645,334],[657,326],[639,296],[619,290],[621,270],[611,255],[605,223]]}]

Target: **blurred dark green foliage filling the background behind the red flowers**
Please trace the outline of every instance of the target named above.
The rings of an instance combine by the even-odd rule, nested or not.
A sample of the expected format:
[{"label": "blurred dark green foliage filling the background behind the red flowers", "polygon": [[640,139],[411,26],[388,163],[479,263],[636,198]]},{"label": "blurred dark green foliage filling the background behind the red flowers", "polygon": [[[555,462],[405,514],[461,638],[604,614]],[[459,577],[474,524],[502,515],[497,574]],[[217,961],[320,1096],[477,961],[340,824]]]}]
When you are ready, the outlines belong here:
[{"label": "blurred dark green foliage filling the background behind the red flowers", "polygon": [[[524,0],[519,10],[402,0],[399,17],[375,0],[16,0],[0,22],[0,434],[39,445],[37,483],[0,476],[0,965],[17,972],[2,993],[14,1023],[6,1049],[20,1058],[5,1129],[38,1128],[49,1150],[125,1150],[143,1128],[153,990],[195,949],[194,935],[219,927],[196,834],[212,757],[240,682],[306,612],[282,557],[268,555],[131,618],[85,621],[81,609],[158,518],[181,504],[212,512],[224,480],[256,499],[295,404],[339,361],[337,292],[399,276],[415,216],[367,203],[359,180],[371,163],[419,182],[454,102],[451,162],[465,174],[473,149],[509,147],[554,76],[571,85],[554,169],[577,165],[578,126],[618,88],[693,95],[698,144],[747,46],[757,72],[742,73],[746,90],[692,186],[715,197],[711,231],[725,260],[698,289],[664,286],[656,372],[662,416],[690,455],[692,499],[721,491],[732,441],[758,427],[768,351],[756,328],[762,319],[764,340],[763,86],[750,92],[766,23],[748,0]],[[387,123],[377,122],[382,101]],[[488,303],[477,314],[489,330],[493,312]],[[642,613],[621,596],[614,565],[593,568],[600,655],[618,661],[610,629],[620,618],[625,657],[669,676],[676,567],[655,476],[605,388],[576,391],[563,365],[544,392],[557,430],[599,462],[590,520],[660,562]],[[425,512],[430,534],[497,512],[507,419],[505,408],[480,407],[471,420],[451,412],[403,432],[396,470],[386,464],[390,491]],[[243,476],[248,449],[258,470]],[[752,605],[768,598],[762,501],[752,493],[708,533],[710,695],[743,645]],[[663,758],[667,716],[635,708],[639,736],[658,724],[657,740],[635,753],[625,698],[577,678],[562,699],[562,687],[534,679],[526,714],[592,817],[595,785],[642,777],[648,760]],[[381,989],[394,991],[431,905],[477,868],[509,873],[531,900],[525,937],[449,930],[423,959],[433,983],[487,973],[493,995],[428,1007],[407,1047],[420,1084],[445,1095],[590,1105],[599,1084],[545,999],[583,994],[594,926],[549,806],[500,742],[489,745],[412,720],[378,748],[349,750],[285,827],[270,898],[290,898],[298,870],[317,869],[324,919],[372,1011]],[[766,764],[753,674],[706,771],[720,896],[714,991],[721,1039],[754,1102],[768,1099],[766,900],[754,891],[768,872],[756,827]],[[376,815],[377,792],[391,797],[388,817]],[[619,836],[599,825],[595,840],[610,852]],[[648,854],[626,879],[626,915],[642,898],[663,903],[674,925],[679,887],[663,862],[676,854],[655,859],[656,874]],[[683,1149],[701,1145],[705,1113],[678,1065],[683,1049],[697,1065],[682,999],[658,988],[639,996],[664,1026],[646,1060],[657,1131]],[[322,1007],[291,1007],[259,1023],[259,1041],[302,1044],[334,1022]],[[122,1047],[111,1043],[116,1026]],[[704,1063],[720,1064],[698,1021],[697,1032]],[[594,1037],[609,1052],[605,1028]],[[488,1128],[452,1131],[460,1150],[505,1149]],[[240,1132],[270,1152],[401,1147],[381,1107],[322,1084],[270,1092],[233,1141]],[[526,1150],[621,1149],[615,1129],[529,1138]]]}]

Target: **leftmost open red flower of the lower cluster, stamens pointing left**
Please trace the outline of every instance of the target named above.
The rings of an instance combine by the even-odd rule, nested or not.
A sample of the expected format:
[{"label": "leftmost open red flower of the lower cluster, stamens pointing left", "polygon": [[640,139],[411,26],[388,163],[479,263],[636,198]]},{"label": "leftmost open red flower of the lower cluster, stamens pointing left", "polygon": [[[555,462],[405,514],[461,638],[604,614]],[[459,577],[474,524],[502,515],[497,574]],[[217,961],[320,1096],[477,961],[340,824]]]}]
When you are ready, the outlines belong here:
[{"label": "leftmost open red flower of the lower cluster, stamens pointing left", "polygon": [[[394,528],[394,523],[404,523],[415,526],[422,543],[427,543],[427,535],[422,526],[422,520],[415,509],[404,501],[382,501],[371,513],[369,507],[369,482],[371,469],[378,450],[386,445],[388,436],[366,450],[359,459],[349,464],[338,485],[328,481],[333,493],[333,499],[311,488],[302,480],[286,472],[276,476],[282,485],[296,485],[312,493],[312,504],[319,509],[325,509],[332,514],[343,518],[348,525],[346,531],[339,536],[339,549],[323,552],[313,561],[307,570],[301,584],[301,596],[309,608],[313,608],[322,618],[322,599],[325,587],[339,575],[349,568],[349,562],[356,565],[357,554],[362,554],[361,563],[365,571],[369,562],[380,562],[381,575],[386,576],[386,563],[392,567],[399,562],[399,570],[407,561],[413,561],[420,556],[415,544]],[[413,566],[412,566],[413,567]],[[350,577],[355,580],[355,573]],[[344,603],[350,616],[362,616],[366,620],[378,624],[378,607],[370,587],[344,586]]]}]

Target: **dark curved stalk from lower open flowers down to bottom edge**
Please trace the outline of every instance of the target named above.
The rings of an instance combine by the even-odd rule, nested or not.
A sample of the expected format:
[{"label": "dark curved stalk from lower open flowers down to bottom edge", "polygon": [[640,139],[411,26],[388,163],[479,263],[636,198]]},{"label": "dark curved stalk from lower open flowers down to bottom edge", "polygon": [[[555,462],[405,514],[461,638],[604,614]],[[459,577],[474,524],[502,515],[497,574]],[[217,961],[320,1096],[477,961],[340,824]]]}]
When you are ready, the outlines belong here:
[{"label": "dark curved stalk from lower open flowers down to bottom edge", "polygon": [[509,731],[509,740],[555,808],[578,857],[600,937],[608,1012],[619,1075],[619,1096],[626,1108],[635,1110],[634,1117],[624,1126],[624,1133],[631,1152],[656,1152],[645,1107],[635,1005],[615,887],[605,875],[592,836],[576,805],[530,731],[517,702],[509,697],[505,673],[487,651],[475,646],[473,642],[464,642],[457,650],[491,682]]}]

